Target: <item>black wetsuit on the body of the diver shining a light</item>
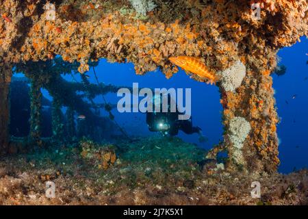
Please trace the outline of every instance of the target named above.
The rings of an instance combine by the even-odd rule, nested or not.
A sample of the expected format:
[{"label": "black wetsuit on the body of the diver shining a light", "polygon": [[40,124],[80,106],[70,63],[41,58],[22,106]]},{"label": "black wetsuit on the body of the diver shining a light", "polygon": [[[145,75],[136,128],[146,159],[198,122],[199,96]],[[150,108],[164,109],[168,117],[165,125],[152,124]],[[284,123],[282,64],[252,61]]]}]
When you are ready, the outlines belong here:
[{"label": "black wetsuit on the body of the diver shining a light", "polygon": [[147,112],[146,123],[150,131],[161,131],[170,136],[177,136],[179,130],[189,135],[201,132],[200,127],[192,126],[192,118],[179,120],[179,115],[178,110],[177,112]]}]

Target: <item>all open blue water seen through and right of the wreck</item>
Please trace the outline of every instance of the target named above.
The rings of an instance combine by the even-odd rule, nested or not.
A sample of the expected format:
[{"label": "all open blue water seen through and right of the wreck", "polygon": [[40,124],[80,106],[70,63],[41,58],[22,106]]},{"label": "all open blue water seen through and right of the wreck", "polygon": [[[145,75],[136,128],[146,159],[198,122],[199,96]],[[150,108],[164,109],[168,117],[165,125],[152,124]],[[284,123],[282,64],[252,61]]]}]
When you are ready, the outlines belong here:
[{"label": "all open blue water seen through and right of the wreck", "polygon": [[[283,173],[308,166],[308,78],[305,79],[308,77],[308,65],[306,64],[308,40],[303,37],[301,41],[279,51],[280,64],[287,66],[287,73],[282,76],[273,75],[277,110],[281,118],[281,123],[278,125],[281,142],[279,144],[279,158],[281,159],[279,171]],[[205,149],[210,149],[222,139],[222,106],[219,103],[220,94],[216,86],[194,81],[183,70],[171,79],[166,79],[159,70],[143,76],[136,75],[131,63],[110,64],[106,60],[100,60],[96,71],[100,82],[112,83],[116,86],[133,86],[133,83],[139,83],[140,88],[191,88],[193,124],[201,127],[209,140],[200,143],[196,134],[188,136],[181,131],[179,137]],[[90,76],[90,82],[96,83],[92,70],[87,74]],[[73,80],[69,75],[65,78],[68,81]],[[75,79],[79,81],[79,75],[75,75]],[[49,96],[46,90],[43,90],[43,93]],[[292,99],[294,95],[296,98]],[[107,94],[105,98],[110,103],[117,103],[120,99],[116,94]],[[95,101],[103,102],[101,97],[97,97]],[[136,136],[155,134],[148,131],[145,114],[120,114],[116,109],[113,113],[116,121],[128,133]]]}]

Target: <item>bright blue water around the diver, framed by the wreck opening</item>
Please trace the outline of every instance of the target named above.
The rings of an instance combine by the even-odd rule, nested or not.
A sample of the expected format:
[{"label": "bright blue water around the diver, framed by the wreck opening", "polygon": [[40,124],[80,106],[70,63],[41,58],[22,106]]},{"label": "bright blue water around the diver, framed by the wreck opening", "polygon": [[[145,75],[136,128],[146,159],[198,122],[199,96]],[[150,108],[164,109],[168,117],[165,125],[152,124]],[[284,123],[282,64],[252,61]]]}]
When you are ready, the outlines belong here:
[{"label": "bright blue water around the diver, framed by the wreck opening", "polygon": [[[211,149],[214,144],[218,144],[221,140],[223,128],[221,124],[220,93],[216,86],[209,86],[205,83],[194,81],[183,70],[173,75],[170,79],[157,68],[155,71],[146,73],[145,75],[136,75],[132,63],[118,64],[108,63],[107,60],[99,60],[98,66],[95,68],[99,81],[103,83],[111,83],[117,87],[132,87],[133,83],[138,83],[139,88],[191,88],[192,93],[192,123],[203,129],[203,133],[207,137],[206,142],[199,142],[198,135],[186,135],[182,131],[179,132],[179,138],[185,142],[198,144],[205,149]],[[94,83],[93,70],[90,69],[90,81]],[[101,96],[97,96],[95,101],[102,101]],[[116,94],[105,95],[107,102],[116,105],[120,97]],[[139,98],[140,100],[142,97]],[[152,136],[161,135],[160,133],[152,133],[146,125],[146,114],[141,112],[120,113],[114,110],[114,116],[118,123],[132,136]]]}]

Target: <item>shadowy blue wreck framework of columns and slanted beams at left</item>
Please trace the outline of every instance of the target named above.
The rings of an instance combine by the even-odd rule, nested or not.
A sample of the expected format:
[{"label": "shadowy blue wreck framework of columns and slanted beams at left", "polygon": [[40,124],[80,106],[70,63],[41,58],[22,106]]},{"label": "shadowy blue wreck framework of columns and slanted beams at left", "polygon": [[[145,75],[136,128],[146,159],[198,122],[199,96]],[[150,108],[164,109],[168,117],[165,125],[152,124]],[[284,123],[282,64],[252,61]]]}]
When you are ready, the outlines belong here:
[{"label": "shadowy blue wreck framework of columns and slanted beams at left", "polygon": [[24,140],[26,143],[21,147],[27,150],[40,146],[44,138],[59,142],[89,138],[101,142],[119,135],[111,114],[101,116],[101,110],[111,111],[114,105],[94,101],[97,96],[119,88],[90,83],[88,75],[78,73],[78,66],[57,56],[47,62],[19,63],[12,68],[11,147],[16,146],[16,140]]}]

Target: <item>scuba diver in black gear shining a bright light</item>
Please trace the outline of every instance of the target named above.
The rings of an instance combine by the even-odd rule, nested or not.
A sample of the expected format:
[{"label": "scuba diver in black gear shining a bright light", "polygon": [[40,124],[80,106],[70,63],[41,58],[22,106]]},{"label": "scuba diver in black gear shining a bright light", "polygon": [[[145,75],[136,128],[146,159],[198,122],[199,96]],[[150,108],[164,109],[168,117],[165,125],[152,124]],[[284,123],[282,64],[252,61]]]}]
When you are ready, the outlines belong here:
[{"label": "scuba diver in black gear shining a bright light", "polygon": [[[175,112],[171,112],[171,103],[174,100],[171,99],[170,94],[167,96],[168,98],[168,111],[167,112],[146,112],[146,123],[149,127],[149,131],[153,132],[161,132],[163,136],[177,136],[179,130],[184,133],[191,135],[193,133],[198,133],[199,142],[205,142],[206,138],[203,136],[202,129],[200,127],[192,126],[192,118],[188,120],[179,120],[179,115],[182,113],[179,112],[178,107],[176,105]],[[162,111],[162,94],[159,96],[154,96],[153,101],[155,99],[160,101],[160,109]],[[154,102],[155,103],[155,102]]]}]

